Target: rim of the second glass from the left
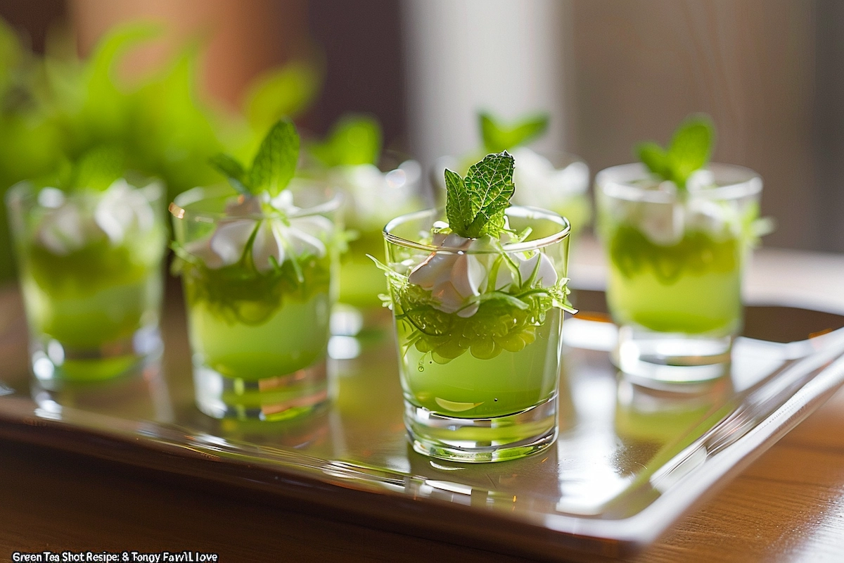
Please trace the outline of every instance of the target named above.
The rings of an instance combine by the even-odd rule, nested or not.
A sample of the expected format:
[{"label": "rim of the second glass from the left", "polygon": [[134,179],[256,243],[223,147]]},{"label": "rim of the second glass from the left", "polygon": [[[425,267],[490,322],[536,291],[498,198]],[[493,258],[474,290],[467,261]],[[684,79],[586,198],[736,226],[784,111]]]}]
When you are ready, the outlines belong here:
[{"label": "rim of the second glass from the left", "polygon": [[[291,186],[294,183],[300,187],[318,186],[325,192],[327,192],[327,198],[326,201],[323,201],[322,203],[317,203],[317,205],[308,208],[300,208],[299,211],[296,211],[292,214],[288,214],[287,217],[289,218],[311,217],[313,215],[332,213],[333,211],[337,211],[344,203],[343,193],[339,192],[333,187],[328,186],[325,182],[294,178],[294,180],[291,181]],[[170,212],[174,219],[186,219],[190,217],[189,220],[204,223],[213,223],[215,221],[223,219],[262,220],[273,219],[278,217],[277,214],[267,213],[237,215],[235,217],[230,214],[226,214],[225,211],[194,211],[188,208],[188,206],[206,199],[223,198],[225,196],[235,196],[240,199],[245,198],[245,196],[236,192],[233,187],[230,187],[226,184],[217,184],[214,186],[197,186],[178,194],[176,198],[173,198],[173,201],[170,203],[167,210]]]}]

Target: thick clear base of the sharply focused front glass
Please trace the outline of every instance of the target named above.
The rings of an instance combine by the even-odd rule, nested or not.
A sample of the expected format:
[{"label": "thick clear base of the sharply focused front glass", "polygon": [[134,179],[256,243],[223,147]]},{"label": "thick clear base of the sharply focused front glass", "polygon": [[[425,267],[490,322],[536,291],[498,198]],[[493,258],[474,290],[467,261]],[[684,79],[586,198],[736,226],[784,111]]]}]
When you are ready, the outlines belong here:
[{"label": "thick clear base of the sharply focused front glass", "polygon": [[404,425],[414,450],[464,463],[501,462],[541,452],[557,438],[557,397],[520,413],[460,419],[404,402]]}]

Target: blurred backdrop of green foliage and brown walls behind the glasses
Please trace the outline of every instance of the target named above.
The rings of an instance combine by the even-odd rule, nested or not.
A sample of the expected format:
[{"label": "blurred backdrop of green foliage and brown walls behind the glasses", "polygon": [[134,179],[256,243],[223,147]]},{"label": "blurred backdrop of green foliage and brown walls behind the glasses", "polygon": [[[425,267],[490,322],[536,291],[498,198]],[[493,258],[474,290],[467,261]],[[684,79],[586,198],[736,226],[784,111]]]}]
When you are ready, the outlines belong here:
[{"label": "blurred backdrop of green foliage and brown walls behind the glasses", "polygon": [[[548,111],[592,172],[689,113],[765,180],[766,246],[844,252],[841,0],[0,0],[0,188],[119,143],[170,195],[278,116],[376,116],[431,165]],[[3,210],[0,276],[11,274]]]}]

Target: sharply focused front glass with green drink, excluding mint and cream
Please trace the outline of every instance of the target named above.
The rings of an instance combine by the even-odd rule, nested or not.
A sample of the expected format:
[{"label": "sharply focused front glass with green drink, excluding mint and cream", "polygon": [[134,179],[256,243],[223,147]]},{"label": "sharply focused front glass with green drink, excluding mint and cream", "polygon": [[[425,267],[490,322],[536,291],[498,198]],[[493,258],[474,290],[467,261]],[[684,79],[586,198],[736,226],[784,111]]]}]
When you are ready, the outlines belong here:
[{"label": "sharply focused front glass with green drink, excluding mint and cream", "polygon": [[[535,208],[511,207],[506,214],[513,230],[533,229],[526,241],[505,244],[506,256],[530,263],[544,255],[554,278],[564,283],[568,221]],[[521,301],[484,300],[471,315],[431,305],[431,291],[402,276],[426,260],[474,260],[488,263],[484,286],[501,256],[492,250],[432,246],[425,235],[441,219],[441,209],[429,209],[393,219],[384,229],[387,266],[398,273],[391,281],[392,311],[404,422],[414,450],[461,462],[538,452],[557,434],[563,311],[518,291],[514,295],[521,295]],[[495,284],[497,279],[495,273]]]}]

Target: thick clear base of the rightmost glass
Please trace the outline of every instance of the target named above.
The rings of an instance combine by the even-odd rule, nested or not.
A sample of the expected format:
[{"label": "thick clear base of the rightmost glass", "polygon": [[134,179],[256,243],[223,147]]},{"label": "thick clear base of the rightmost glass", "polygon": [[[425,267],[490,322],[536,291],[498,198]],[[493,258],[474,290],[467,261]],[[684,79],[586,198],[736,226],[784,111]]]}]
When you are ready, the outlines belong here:
[{"label": "thick clear base of the rightmost glass", "polygon": [[619,328],[612,360],[637,383],[706,382],[729,373],[733,336],[656,333],[645,328]]}]

